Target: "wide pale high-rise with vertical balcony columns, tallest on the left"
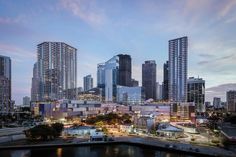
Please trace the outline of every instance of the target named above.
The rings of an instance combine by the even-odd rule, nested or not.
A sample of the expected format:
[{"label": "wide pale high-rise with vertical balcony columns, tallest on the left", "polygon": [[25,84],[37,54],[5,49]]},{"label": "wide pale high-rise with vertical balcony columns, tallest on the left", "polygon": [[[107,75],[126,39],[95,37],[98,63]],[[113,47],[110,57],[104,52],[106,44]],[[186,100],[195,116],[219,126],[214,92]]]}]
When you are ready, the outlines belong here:
[{"label": "wide pale high-rise with vertical balcony columns, tallest on the left", "polygon": [[68,89],[77,84],[77,49],[62,42],[43,42],[37,59],[39,100],[66,98]]}]

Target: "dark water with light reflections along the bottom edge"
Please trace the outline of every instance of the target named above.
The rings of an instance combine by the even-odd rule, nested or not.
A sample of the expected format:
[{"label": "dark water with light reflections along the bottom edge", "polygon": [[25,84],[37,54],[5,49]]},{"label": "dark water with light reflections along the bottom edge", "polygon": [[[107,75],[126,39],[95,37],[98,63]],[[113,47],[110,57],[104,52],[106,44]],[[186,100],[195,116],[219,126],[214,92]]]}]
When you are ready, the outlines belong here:
[{"label": "dark water with light reflections along the bottom edge", "polygon": [[94,145],[59,148],[33,148],[0,150],[1,157],[193,157],[181,152],[168,152],[127,144]]}]

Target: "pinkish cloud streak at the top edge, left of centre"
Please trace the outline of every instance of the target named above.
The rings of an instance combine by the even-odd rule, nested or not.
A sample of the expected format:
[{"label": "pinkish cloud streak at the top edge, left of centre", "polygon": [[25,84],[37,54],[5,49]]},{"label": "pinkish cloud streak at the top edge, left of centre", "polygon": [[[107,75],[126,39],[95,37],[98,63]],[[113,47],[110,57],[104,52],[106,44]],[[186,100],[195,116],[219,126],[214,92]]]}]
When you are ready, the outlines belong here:
[{"label": "pinkish cloud streak at the top edge, left of centre", "polygon": [[61,5],[92,26],[99,26],[105,22],[104,12],[96,6],[94,0],[61,0]]}]

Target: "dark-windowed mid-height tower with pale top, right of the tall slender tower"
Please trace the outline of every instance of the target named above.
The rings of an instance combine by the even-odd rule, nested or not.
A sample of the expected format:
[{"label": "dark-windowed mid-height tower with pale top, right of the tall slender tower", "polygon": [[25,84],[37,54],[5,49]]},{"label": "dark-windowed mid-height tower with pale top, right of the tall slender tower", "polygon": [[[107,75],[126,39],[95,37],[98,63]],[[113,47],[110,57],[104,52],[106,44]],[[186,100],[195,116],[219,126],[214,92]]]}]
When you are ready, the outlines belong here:
[{"label": "dark-windowed mid-height tower with pale top, right of the tall slender tower", "polygon": [[190,77],[188,83],[188,102],[194,102],[197,112],[205,112],[205,80],[202,78]]}]

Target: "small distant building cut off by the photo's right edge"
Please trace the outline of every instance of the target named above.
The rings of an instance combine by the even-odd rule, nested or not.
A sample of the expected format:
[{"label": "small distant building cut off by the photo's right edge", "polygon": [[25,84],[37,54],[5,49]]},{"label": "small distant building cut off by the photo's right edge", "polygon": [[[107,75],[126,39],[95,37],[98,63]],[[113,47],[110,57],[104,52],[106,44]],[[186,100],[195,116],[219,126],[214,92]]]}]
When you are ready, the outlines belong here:
[{"label": "small distant building cut off by the photo's right edge", "polygon": [[226,93],[227,111],[236,112],[236,91],[231,90]]}]

